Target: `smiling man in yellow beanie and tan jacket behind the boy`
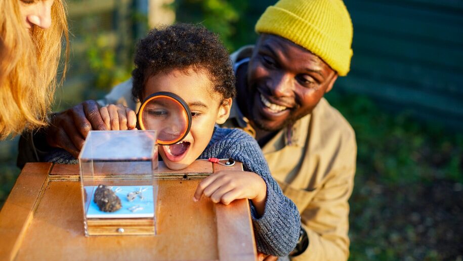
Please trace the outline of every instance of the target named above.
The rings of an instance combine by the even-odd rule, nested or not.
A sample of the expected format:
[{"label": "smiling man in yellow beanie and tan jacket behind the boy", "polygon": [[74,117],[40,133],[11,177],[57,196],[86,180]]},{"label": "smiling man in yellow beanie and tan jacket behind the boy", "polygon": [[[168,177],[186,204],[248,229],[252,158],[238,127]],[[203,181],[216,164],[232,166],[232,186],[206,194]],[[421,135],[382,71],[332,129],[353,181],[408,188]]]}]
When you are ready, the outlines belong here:
[{"label": "smiling man in yellow beanie and tan jacket behind the boy", "polygon": [[[293,259],[347,259],[357,148],[351,126],[323,95],[349,71],[349,13],[341,0],[281,0],[264,12],[256,31],[255,47],[231,55],[238,95],[224,125],[255,136],[272,175],[298,206],[303,228]],[[137,110],[131,86],[115,87],[103,103]],[[49,146],[76,157],[90,129],[105,129],[94,101],[55,115],[48,129],[21,140],[33,150],[21,148],[18,162],[40,160]],[[47,142],[40,143],[42,135]]]}]

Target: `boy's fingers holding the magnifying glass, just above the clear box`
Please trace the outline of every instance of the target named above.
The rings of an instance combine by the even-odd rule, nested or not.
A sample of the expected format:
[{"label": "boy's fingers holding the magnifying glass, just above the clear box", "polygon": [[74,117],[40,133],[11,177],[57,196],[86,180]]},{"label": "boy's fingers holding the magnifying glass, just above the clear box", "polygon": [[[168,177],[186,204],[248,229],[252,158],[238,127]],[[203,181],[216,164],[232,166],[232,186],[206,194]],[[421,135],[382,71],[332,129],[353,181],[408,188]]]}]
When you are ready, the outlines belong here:
[{"label": "boy's fingers holding the magnifying glass, just above the clear box", "polygon": [[100,108],[100,114],[108,130],[136,129],[137,115],[124,105],[109,104]]}]

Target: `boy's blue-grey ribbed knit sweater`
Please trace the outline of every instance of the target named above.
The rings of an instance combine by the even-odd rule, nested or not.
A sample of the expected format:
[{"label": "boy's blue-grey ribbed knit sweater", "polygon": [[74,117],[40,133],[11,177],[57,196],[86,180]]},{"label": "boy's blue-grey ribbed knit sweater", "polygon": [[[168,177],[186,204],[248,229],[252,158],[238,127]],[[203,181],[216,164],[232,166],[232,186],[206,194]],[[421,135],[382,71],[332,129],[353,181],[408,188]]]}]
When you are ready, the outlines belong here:
[{"label": "boy's blue-grey ribbed knit sweater", "polygon": [[[283,195],[270,170],[257,141],[239,129],[216,128],[211,141],[199,159],[233,158],[243,163],[243,169],[258,174],[267,185],[267,201],[261,217],[249,201],[257,250],[275,256],[285,256],[299,240],[301,217],[296,205]],[[75,164],[77,160],[63,150],[56,150],[46,161]]]}]

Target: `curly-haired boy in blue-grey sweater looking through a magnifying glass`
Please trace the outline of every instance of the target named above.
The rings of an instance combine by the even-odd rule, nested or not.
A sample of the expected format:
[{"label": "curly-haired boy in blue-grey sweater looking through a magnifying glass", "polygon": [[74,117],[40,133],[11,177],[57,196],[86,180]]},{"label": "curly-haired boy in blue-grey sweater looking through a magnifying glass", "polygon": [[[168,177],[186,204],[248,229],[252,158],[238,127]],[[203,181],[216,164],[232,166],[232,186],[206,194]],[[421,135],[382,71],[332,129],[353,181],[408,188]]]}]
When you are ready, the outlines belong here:
[{"label": "curly-haired boy in blue-grey sweater looking through a magnifying glass", "polygon": [[[203,27],[177,24],[152,30],[140,41],[133,70],[135,98],[159,91],[182,97],[192,113],[191,130],[183,142],[159,146],[165,165],[182,169],[196,159],[233,158],[245,171],[220,171],[202,180],[193,196],[229,204],[250,200],[259,252],[285,256],[300,232],[298,209],[270,175],[256,140],[238,129],[215,127],[227,120],[235,95],[234,73],[217,36]],[[135,113],[121,105],[100,109],[109,129],[132,129]],[[63,153],[51,161],[63,161]]]}]

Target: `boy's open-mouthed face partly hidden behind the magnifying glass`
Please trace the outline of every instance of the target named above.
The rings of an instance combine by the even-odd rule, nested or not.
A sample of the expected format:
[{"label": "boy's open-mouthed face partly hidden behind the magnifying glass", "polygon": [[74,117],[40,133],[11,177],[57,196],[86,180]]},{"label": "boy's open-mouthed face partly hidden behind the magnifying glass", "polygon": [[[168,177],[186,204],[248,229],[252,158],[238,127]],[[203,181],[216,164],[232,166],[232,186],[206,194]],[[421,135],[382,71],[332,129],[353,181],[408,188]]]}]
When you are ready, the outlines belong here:
[{"label": "boy's open-mouthed face partly hidden behind the magnifying glass", "polygon": [[228,105],[222,104],[222,95],[213,88],[205,70],[160,72],[146,82],[143,98],[155,92],[172,92],[184,99],[191,110],[191,129],[181,143],[159,146],[159,154],[170,169],[183,169],[193,163],[211,140],[214,125],[227,120],[231,99]]}]

